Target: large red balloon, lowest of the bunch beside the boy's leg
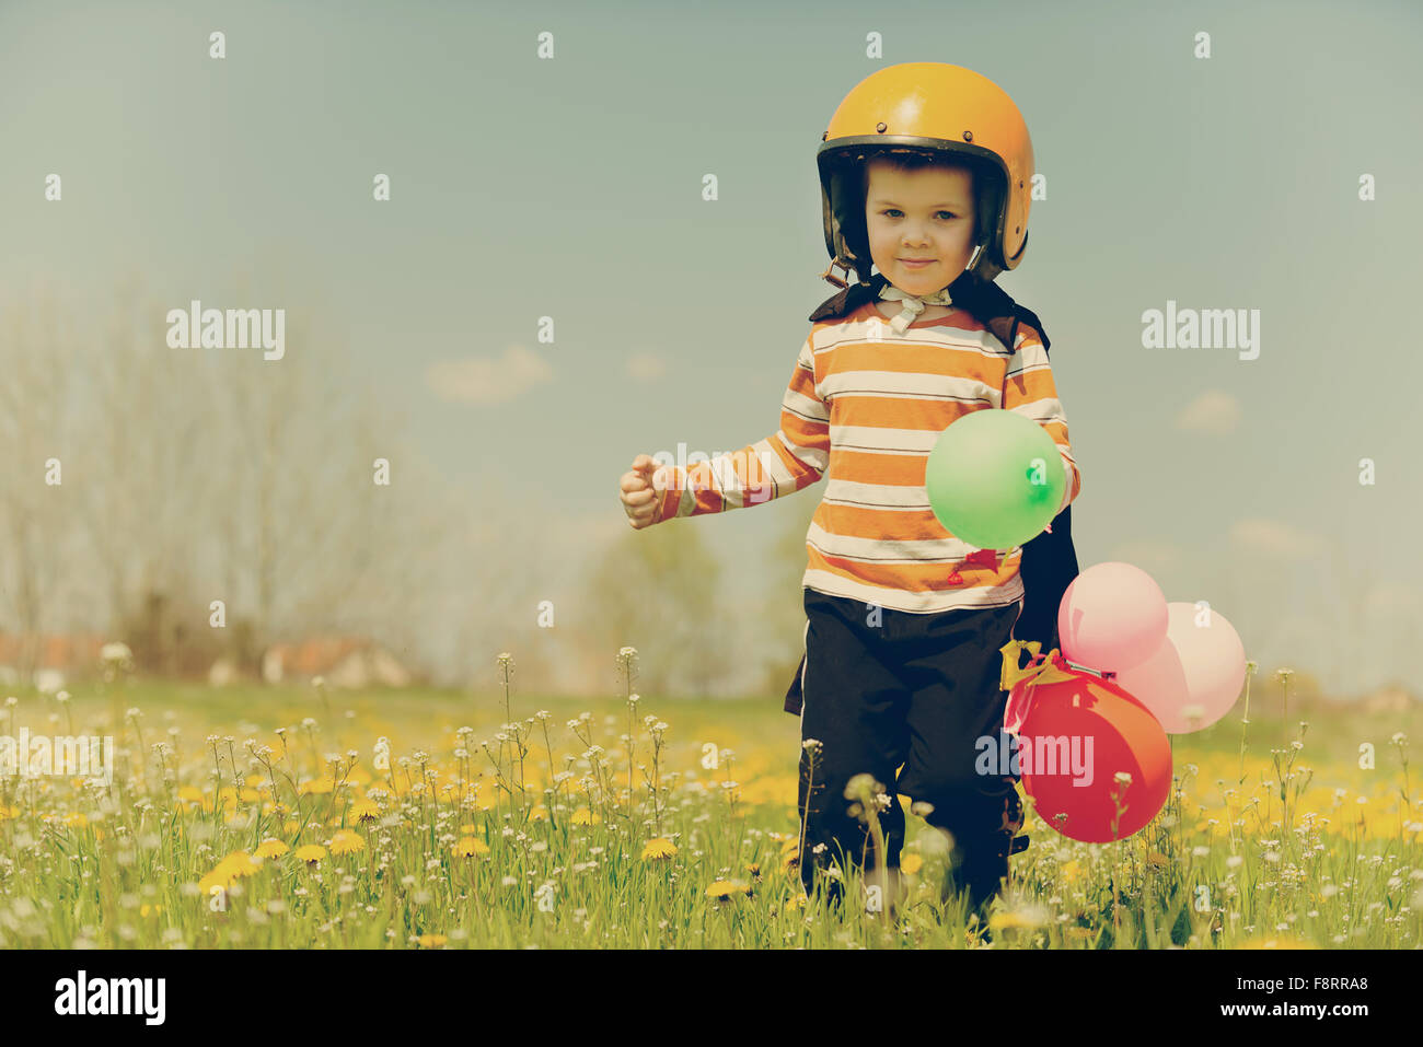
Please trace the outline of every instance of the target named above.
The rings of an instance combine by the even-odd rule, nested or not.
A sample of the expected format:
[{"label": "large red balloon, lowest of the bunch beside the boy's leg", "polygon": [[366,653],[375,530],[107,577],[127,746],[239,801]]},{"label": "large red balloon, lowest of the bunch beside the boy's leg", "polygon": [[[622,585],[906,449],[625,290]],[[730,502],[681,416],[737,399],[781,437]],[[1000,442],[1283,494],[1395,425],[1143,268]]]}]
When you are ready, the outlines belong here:
[{"label": "large red balloon, lowest of the bunch beside the boy's leg", "polygon": [[[1121,687],[1056,664],[1073,679],[1035,686],[1017,730],[1023,790],[1037,801],[1039,818],[1069,839],[1126,839],[1165,804],[1171,743],[1151,710]],[[1026,683],[1015,684],[1012,698],[1023,698]],[[1118,782],[1118,771],[1131,781]]]}]

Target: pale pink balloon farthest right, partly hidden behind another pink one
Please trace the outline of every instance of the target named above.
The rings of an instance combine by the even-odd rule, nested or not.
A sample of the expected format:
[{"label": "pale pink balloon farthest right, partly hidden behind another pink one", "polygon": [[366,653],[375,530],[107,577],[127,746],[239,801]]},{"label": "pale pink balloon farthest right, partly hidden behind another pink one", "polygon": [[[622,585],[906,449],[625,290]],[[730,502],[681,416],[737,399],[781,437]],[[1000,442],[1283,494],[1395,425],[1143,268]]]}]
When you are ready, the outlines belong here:
[{"label": "pale pink balloon farthest right, partly hidden behind another pink one", "polygon": [[1167,610],[1161,646],[1140,666],[1118,671],[1116,683],[1150,708],[1167,734],[1190,734],[1214,724],[1239,698],[1245,647],[1214,609],[1171,602]]}]

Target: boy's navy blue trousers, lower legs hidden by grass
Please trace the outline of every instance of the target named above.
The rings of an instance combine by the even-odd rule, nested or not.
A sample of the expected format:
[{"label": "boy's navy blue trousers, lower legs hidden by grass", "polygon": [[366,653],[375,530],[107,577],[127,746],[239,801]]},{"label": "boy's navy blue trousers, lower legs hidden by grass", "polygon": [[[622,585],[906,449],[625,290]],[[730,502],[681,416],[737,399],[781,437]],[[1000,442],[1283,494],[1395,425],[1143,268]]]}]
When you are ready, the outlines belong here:
[{"label": "boy's navy blue trousers, lower legs hidden by grass", "polygon": [[[970,912],[982,910],[1002,889],[1009,854],[1027,846],[1027,836],[1016,836],[1023,809],[1012,768],[975,770],[978,740],[998,744],[1003,728],[1000,647],[1022,600],[912,615],[805,589],[804,603],[798,804],[807,895],[815,871],[831,863],[898,868],[904,794],[931,804],[925,821],[952,839],[943,900],[966,891]],[[814,757],[808,738],[821,743]],[[878,814],[884,855],[844,795],[857,774],[874,775],[889,797]],[[827,896],[842,899],[841,881],[827,881]]]}]

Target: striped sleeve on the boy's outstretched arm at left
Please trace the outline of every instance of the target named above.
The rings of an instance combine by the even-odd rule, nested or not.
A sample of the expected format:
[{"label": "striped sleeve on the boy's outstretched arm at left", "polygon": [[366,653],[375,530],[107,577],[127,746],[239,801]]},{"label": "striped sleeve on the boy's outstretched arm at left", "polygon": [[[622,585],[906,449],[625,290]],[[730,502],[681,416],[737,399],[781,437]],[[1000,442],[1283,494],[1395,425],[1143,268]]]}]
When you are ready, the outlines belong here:
[{"label": "striped sleeve on the boy's outstretched arm at left", "polygon": [[659,519],[726,512],[794,494],[818,481],[830,464],[830,411],[815,393],[811,340],[801,346],[790,386],[781,398],[781,427],[740,451],[710,461],[663,465]]}]

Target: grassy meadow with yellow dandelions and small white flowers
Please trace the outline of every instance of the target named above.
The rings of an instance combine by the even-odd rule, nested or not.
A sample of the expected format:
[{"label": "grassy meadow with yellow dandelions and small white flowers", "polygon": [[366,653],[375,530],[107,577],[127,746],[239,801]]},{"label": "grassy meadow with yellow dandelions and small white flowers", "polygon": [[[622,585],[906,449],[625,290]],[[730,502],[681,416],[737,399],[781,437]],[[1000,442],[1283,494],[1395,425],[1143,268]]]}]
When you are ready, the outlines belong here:
[{"label": "grassy meadow with yellow dandelions and small white flowers", "polygon": [[[827,910],[795,858],[780,697],[208,689],[23,693],[10,737],[112,735],[112,781],[0,778],[0,946],[1414,949],[1417,707],[1286,707],[1288,673],[1173,738],[1167,807],[1079,844],[1032,812],[989,933],[909,812],[895,912]],[[1268,680],[1268,677],[1266,677]],[[384,741],[381,741],[384,740]],[[1372,745],[1373,765],[1360,758]],[[862,899],[844,871],[847,896]]]}]

